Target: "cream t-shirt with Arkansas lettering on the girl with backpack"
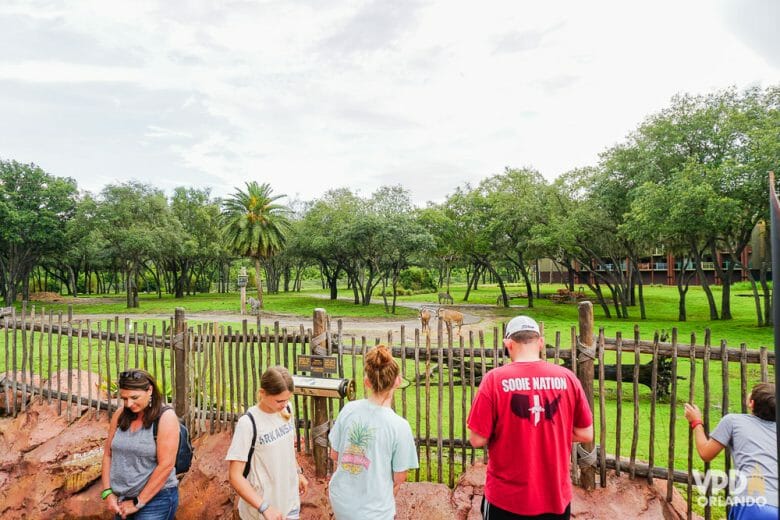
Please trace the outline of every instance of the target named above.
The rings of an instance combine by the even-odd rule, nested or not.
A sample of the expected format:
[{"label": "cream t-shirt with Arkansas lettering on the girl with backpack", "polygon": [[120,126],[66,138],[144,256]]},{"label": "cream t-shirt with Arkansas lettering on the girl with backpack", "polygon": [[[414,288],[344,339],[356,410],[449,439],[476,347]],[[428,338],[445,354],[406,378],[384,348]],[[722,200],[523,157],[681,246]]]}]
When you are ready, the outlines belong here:
[{"label": "cream t-shirt with Arkansas lettering on the girl with backpack", "polygon": [[[292,410],[292,405],[290,405]],[[255,452],[247,480],[263,499],[288,518],[298,518],[298,463],[295,459],[295,415],[289,420],[279,413],[266,413],[257,406],[249,409],[257,427]],[[225,460],[246,462],[252,442],[252,423],[242,416],[236,424]],[[239,498],[238,514],[243,520],[259,520],[257,509]]]}]

